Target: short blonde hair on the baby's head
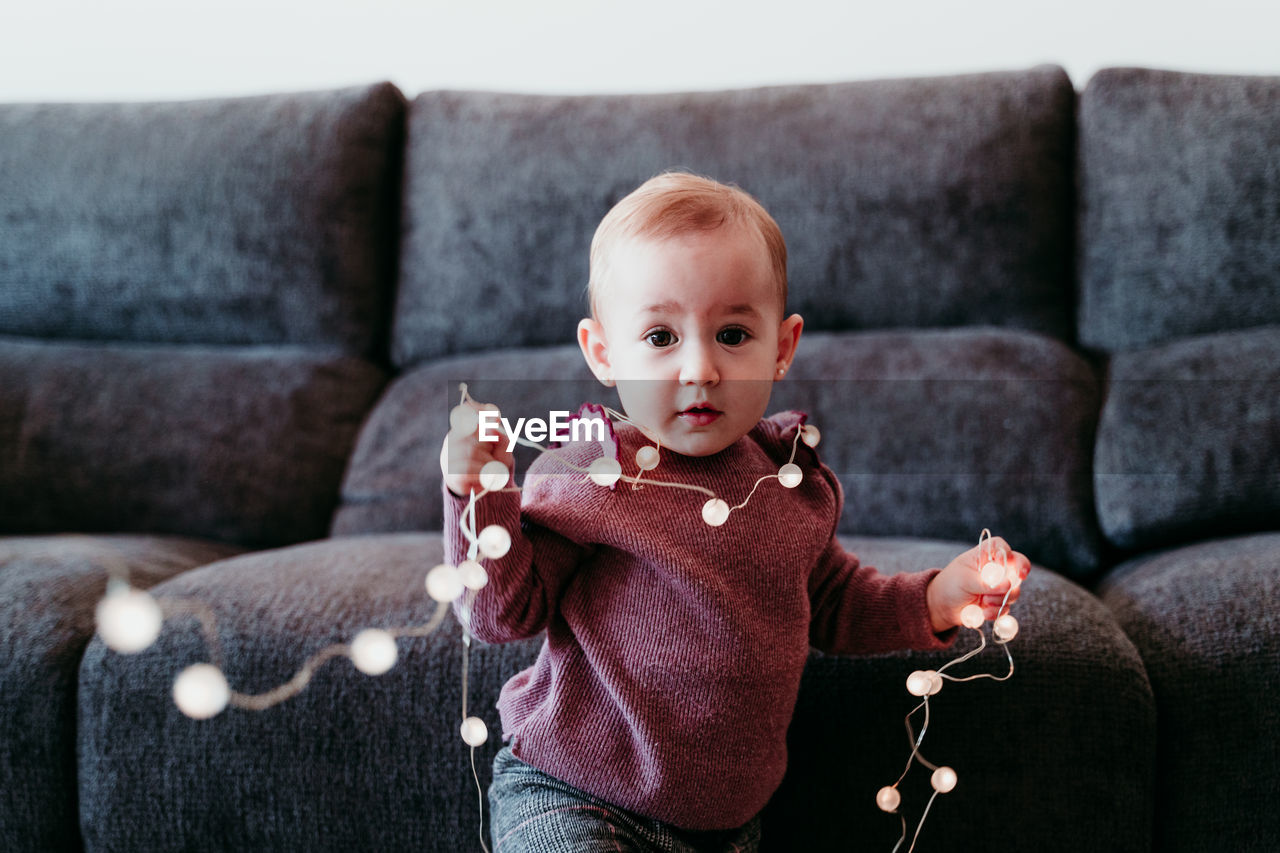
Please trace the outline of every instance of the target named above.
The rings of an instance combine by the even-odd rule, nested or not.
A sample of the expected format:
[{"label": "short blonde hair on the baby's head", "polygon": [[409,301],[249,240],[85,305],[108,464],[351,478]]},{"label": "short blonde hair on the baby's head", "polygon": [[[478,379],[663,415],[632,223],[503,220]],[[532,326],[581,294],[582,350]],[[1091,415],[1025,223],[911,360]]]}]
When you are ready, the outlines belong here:
[{"label": "short blonde hair on the baby's head", "polygon": [[591,316],[599,316],[596,297],[608,275],[609,256],[618,242],[644,237],[668,240],[691,232],[716,231],[726,224],[749,225],[759,232],[773,265],[778,304],[786,314],[787,243],[773,216],[736,186],[689,172],[663,172],[616,204],[595,229],[588,282]]}]

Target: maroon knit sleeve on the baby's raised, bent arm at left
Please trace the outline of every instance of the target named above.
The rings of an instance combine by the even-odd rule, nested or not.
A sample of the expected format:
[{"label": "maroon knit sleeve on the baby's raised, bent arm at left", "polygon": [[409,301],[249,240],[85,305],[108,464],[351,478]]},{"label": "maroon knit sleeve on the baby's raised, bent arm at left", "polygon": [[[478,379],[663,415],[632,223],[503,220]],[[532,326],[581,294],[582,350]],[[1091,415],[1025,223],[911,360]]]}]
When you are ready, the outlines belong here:
[{"label": "maroon knit sleeve on the baby's raised, bent arm at left", "polygon": [[[497,524],[511,534],[511,549],[498,558],[477,557],[489,583],[471,603],[471,633],[485,643],[509,643],[534,637],[556,613],[561,592],[590,553],[585,542],[591,505],[573,500],[576,483],[563,475],[538,476],[535,462],[525,491],[503,489],[475,503],[479,533]],[[467,558],[461,523],[467,498],[444,489],[444,558],[453,565]],[[573,515],[573,508],[584,515]],[[460,602],[454,603],[454,611]]]}]

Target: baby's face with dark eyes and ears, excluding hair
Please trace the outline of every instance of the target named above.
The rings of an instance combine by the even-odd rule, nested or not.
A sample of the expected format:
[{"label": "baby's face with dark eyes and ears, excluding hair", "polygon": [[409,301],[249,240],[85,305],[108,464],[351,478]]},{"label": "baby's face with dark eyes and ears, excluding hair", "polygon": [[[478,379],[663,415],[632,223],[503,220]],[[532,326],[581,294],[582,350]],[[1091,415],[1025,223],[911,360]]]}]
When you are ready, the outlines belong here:
[{"label": "baby's face with dark eyes and ears, excluding hair", "polygon": [[782,318],[763,240],[742,227],[628,240],[609,270],[579,342],[596,375],[617,382],[627,416],[689,456],[755,426],[801,325]]}]

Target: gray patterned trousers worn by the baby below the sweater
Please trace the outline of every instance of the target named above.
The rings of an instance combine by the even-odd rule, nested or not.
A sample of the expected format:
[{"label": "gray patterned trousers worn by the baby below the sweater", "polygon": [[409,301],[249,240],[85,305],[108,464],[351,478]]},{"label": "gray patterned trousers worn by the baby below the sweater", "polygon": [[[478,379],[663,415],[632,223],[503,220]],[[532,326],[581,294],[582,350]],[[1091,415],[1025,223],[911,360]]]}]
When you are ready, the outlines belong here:
[{"label": "gray patterned trousers worn by the baby below the sweater", "polygon": [[504,747],[489,786],[493,853],[755,853],[760,818],[682,830],[618,808],[530,767]]}]

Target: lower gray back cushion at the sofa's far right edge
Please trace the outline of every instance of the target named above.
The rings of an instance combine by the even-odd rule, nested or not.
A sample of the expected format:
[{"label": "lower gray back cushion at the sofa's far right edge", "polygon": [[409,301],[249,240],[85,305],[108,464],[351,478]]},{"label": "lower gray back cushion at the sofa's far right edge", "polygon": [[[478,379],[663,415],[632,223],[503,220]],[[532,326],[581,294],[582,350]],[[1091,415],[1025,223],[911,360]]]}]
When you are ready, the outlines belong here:
[{"label": "lower gray back cushion at the sofa's far right edge", "polygon": [[1280,327],[1115,353],[1094,483],[1125,548],[1275,529]]}]

